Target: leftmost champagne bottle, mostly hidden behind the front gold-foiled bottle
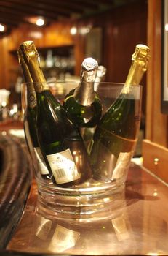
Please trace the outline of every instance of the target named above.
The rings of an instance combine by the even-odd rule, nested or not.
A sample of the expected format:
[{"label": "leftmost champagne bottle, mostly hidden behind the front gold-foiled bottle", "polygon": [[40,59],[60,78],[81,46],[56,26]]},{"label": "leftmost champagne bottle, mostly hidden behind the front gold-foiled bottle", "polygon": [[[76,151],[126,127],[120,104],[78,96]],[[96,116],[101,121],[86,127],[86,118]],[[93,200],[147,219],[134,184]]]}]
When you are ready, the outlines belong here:
[{"label": "leftmost champagne bottle, mostly hidden behind the front gold-foiled bottle", "polygon": [[37,167],[40,170],[43,178],[49,178],[49,171],[45,164],[44,158],[39,148],[39,142],[36,134],[36,91],[33,87],[33,80],[28,70],[27,65],[23,59],[23,54],[19,49],[17,51],[18,59],[23,70],[23,77],[25,80],[25,86],[27,87],[27,109],[23,120],[23,128],[25,131],[25,140],[28,145],[29,152],[34,157],[36,156]]}]

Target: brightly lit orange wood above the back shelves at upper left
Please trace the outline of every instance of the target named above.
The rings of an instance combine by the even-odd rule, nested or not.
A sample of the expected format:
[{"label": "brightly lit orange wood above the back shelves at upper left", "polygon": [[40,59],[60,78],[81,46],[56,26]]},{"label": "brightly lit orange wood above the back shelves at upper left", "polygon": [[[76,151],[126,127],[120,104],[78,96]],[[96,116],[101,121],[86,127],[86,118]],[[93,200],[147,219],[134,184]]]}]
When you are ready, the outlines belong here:
[{"label": "brightly lit orange wood above the back shelves at upper left", "polygon": [[73,45],[70,34],[71,22],[64,20],[41,28],[33,25],[20,25],[13,29],[8,37],[0,39],[0,88],[11,88],[17,78],[18,60],[17,48],[25,40],[33,40],[36,48],[50,48],[62,45]]}]

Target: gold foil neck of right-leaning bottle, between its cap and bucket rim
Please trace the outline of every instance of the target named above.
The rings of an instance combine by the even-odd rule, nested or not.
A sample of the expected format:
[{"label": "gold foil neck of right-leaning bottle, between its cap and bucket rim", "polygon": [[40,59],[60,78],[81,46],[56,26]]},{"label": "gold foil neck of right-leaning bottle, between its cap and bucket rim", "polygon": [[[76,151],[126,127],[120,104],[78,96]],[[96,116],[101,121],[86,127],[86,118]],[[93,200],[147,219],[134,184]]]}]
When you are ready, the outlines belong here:
[{"label": "gold foil neck of right-leaning bottle, between its cap and bucket rim", "polygon": [[143,66],[143,64],[140,64],[137,61],[132,61],[132,65],[129,69],[127,80],[125,81],[126,86],[140,85],[140,81],[143,78],[143,74],[146,71],[145,67]]}]

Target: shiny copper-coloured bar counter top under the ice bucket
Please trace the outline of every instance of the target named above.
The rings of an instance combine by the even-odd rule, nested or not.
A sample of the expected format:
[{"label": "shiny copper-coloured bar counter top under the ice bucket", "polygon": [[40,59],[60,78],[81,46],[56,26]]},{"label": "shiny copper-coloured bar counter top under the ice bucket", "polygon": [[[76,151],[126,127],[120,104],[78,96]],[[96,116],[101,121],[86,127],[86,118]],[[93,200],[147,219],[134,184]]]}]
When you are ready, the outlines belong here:
[{"label": "shiny copper-coloured bar counter top under the ice bucket", "polygon": [[124,197],[110,216],[61,219],[44,216],[32,179],[23,215],[0,255],[168,255],[167,195],[167,184],[132,159]]}]

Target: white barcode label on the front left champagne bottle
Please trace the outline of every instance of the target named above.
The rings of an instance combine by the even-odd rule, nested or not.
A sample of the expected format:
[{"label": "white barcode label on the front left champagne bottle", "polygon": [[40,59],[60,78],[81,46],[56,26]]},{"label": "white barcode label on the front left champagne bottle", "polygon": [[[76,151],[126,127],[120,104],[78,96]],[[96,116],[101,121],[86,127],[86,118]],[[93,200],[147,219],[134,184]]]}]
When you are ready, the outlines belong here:
[{"label": "white barcode label on the front left champagne bottle", "polygon": [[57,184],[75,181],[80,178],[81,175],[78,173],[70,149],[56,154],[49,154],[47,159]]}]

